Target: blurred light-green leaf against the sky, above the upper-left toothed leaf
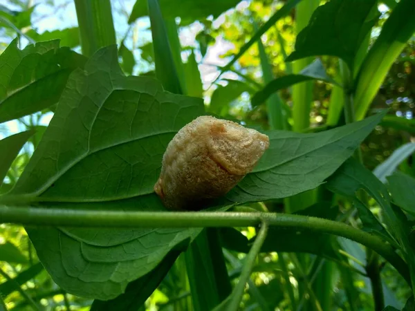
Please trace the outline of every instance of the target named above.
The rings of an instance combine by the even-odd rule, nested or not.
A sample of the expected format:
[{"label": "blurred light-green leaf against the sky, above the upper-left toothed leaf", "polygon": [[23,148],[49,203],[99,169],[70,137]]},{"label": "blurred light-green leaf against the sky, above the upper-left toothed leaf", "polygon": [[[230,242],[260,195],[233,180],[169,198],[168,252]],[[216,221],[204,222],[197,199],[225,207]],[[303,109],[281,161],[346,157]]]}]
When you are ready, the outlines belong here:
[{"label": "blurred light-green leaf against the sky, above the upper-left toothed leaf", "polygon": [[75,48],[80,45],[80,30],[77,27],[53,31],[46,30],[41,34],[30,29],[26,32],[26,35],[38,42],[59,39],[60,46],[68,46],[69,48]]}]

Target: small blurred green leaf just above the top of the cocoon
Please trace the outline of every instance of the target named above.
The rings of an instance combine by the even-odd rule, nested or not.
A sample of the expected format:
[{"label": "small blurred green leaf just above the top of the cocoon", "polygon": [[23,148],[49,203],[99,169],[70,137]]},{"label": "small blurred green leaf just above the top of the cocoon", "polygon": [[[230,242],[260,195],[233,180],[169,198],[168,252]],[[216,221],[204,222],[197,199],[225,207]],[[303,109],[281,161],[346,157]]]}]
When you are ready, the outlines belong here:
[{"label": "small blurred green leaf just above the top of the cocoon", "polygon": [[248,84],[238,80],[226,80],[228,84],[226,86],[218,85],[216,90],[212,94],[210,100],[209,111],[212,113],[220,114],[223,107],[237,100],[237,98],[243,93],[252,93],[252,88]]}]

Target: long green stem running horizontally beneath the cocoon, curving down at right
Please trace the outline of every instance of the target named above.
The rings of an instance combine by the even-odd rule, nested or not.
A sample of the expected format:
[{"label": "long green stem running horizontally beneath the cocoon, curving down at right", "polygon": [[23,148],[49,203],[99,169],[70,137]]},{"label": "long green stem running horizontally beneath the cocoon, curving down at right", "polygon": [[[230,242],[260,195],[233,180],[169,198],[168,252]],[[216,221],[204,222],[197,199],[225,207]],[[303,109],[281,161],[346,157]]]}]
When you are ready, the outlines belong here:
[{"label": "long green stem running horizontally beneath the cocoon, curving down at right", "polygon": [[250,227],[268,225],[306,229],[349,238],[385,258],[411,284],[409,271],[394,249],[381,238],[344,223],[322,218],[278,213],[231,213],[225,211],[94,211],[0,205],[0,223],[71,227]]}]

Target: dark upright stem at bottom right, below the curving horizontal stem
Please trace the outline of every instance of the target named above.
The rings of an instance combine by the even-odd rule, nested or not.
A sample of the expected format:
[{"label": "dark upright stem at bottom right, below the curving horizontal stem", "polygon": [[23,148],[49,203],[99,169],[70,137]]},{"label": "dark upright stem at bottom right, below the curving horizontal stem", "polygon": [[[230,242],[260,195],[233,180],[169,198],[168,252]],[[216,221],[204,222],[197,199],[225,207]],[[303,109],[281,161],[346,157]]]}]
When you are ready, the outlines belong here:
[{"label": "dark upright stem at bottom right, below the curving horizontal stem", "polygon": [[366,273],[370,279],[372,293],[374,295],[374,310],[381,311],[385,308],[385,299],[383,296],[382,279],[380,279],[379,255],[372,249],[367,248],[366,257]]}]

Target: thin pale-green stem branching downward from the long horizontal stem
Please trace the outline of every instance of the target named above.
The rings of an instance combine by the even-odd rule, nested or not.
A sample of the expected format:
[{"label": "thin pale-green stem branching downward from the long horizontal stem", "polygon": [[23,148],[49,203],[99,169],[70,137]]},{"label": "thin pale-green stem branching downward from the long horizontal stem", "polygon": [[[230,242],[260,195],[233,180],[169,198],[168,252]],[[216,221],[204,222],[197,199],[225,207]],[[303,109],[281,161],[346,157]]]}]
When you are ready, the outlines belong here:
[{"label": "thin pale-green stem branching downward from the long horizontal stem", "polygon": [[241,277],[239,278],[239,282],[237,286],[234,288],[234,291],[231,295],[231,300],[228,305],[227,310],[229,311],[237,311],[239,310],[239,303],[241,303],[241,299],[243,296],[243,292],[245,290],[245,285],[250,278],[250,274],[252,272],[252,267],[255,263],[255,258],[257,258],[258,253],[261,251],[261,246],[264,244],[266,235],[268,234],[268,223],[266,221],[261,223],[261,229],[255,238],[255,242],[252,245],[248,255],[245,258],[245,263],[243,265],[243,269],[241,272]]}]

